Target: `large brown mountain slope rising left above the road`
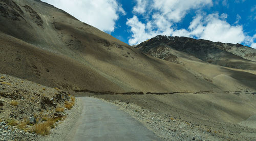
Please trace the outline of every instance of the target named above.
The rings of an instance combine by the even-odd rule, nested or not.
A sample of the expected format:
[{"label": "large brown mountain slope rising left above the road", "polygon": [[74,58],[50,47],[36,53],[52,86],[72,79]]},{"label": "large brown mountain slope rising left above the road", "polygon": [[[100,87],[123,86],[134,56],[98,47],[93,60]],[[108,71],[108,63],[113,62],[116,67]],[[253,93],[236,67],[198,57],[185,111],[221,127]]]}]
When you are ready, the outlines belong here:
[{"label": "large brown mountain slope rising left above the road", "polygon": [[194,92],[216,87],[182,65],[148,57],[51,5],[24,0],[1,1],[1,7],[2,73],[68,90]]}]

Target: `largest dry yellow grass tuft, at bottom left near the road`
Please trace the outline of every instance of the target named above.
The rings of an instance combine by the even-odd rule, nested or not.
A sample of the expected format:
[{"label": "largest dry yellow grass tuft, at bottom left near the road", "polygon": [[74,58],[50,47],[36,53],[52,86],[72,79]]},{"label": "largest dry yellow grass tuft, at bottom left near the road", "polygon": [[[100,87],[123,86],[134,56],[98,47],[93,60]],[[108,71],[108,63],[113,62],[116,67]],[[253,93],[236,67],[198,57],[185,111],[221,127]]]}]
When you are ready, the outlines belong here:
[{"label": "largest dry yellow grass tuft, at bottom left near the road", "polygon": [[50,133],[51,128],[54,127],[54,121],[50,120],[45,123],[37,124],[34,126],[33,131],[36,134],[47,135]]}]

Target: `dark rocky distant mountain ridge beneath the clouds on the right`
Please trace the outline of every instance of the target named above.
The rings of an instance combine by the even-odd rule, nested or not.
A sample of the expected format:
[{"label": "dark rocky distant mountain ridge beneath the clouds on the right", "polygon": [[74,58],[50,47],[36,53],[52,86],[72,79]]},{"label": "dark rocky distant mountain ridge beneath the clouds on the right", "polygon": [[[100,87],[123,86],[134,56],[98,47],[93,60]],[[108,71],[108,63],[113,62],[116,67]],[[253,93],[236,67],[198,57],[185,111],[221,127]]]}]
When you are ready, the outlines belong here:
[{"label": "dark rocky distant mountain ridge beneath the clouds on the right", "polygon": [[256,49],[241,44],[158,35],[140,43],[135,48],[139,48],[146,54],[171,62],[177,62],[177,54],[174,53],[174,50],[176,50],[193,55],[211,64],[238,69],[256,70]]}]

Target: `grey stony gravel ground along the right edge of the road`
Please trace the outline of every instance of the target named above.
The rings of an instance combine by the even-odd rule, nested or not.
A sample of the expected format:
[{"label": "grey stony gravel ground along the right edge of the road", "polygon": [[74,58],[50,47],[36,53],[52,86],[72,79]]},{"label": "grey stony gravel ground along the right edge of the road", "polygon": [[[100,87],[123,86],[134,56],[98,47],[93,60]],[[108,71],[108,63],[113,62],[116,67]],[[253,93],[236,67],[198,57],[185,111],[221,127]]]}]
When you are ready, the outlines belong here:
[{"label": "grey stony gravel ground along the right edge of the road", "polygon": [[[180,119],[178,115],[156,113],[148,109],[120,100],[110,101],[133,118],[143,123],[148,129],[163,140],[254,140],[253,136],[246,137],[239,133],[225,130],[228,126],[238,126],[223,123],[223,127],[209,127]],[[209,119],[209,123],[214,121]],[[215,124],[215,123],[214,123]],[[226,127],[225,127],[226,126]],[[242,127],[246,128],[246,127]],[[239,130],[239,129],[238,129]],[[246,128],[251,130],[251,128]]]}]

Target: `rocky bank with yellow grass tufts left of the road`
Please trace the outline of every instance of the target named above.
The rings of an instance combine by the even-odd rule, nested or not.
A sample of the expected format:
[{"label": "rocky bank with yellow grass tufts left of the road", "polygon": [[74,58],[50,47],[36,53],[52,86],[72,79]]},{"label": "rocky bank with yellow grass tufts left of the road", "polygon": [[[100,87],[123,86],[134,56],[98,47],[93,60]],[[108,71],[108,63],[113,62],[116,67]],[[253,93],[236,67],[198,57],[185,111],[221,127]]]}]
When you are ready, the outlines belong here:
[{"label": "rocky bank with yellow grass tufts left of the road", "polygon": [[38,140],[67,117],[74,101],[58,88],[0,74],[0,140]]}]

